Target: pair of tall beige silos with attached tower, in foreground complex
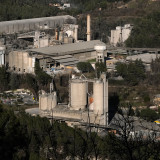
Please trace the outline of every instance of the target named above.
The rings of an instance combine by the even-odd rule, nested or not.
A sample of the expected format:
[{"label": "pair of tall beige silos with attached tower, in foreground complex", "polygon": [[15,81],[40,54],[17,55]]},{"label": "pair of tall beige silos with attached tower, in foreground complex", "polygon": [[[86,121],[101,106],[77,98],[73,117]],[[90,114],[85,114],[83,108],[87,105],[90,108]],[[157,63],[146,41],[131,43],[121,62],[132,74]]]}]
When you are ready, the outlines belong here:
[{"label": "pair of tall beige silos with attached tower, in foreground complex", "polygon": [[[88,97],[89,82],[93,83],[93,96],[91,97]],[[85,110],[87,106],[95,115],[108,112],[108,83],[105,77],[92,81],[86,79],[70,81],[70,109]]]}]

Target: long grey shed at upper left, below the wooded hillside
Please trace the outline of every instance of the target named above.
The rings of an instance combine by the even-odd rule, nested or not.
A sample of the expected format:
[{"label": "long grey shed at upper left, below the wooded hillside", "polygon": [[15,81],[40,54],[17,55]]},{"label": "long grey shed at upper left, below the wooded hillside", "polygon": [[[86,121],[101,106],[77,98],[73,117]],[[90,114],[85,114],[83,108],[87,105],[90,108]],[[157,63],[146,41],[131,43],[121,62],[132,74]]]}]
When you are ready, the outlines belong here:
[{"label": "long grey shed at upper left, below the wooded hillside", "polygon": [[63,24],[68,23],[69,20],[72,20],[72,23],[76,24],[76,18],[69,15],[4,21],[0,22],[0,34],[13,34],[51,29],[57,26],[61,27]]}]

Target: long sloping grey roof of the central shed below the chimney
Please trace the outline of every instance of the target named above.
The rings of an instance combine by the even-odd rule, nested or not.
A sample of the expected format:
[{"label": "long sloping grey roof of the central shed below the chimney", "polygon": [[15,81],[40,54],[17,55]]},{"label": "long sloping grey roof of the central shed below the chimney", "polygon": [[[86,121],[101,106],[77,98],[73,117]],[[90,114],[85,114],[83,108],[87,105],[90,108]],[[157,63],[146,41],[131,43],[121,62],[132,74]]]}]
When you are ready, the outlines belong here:
[{"label": "long sloping grey roof of the central shed below the chimney", "polygon": [[51,47],[29,49],[28,51],[50,56],[58,56],[58,55],[94,51],[94,46],[97,44],[104,44],[104,43],[101,42],[100,40],[93,40],[93,41],[84,41],[84,42],[70,43],[64,45],[55,45]]}]

